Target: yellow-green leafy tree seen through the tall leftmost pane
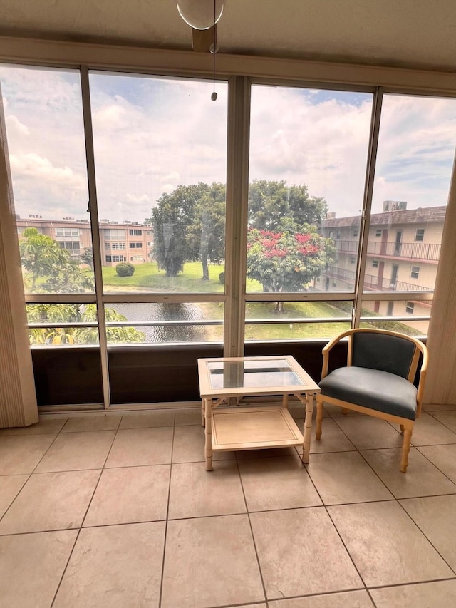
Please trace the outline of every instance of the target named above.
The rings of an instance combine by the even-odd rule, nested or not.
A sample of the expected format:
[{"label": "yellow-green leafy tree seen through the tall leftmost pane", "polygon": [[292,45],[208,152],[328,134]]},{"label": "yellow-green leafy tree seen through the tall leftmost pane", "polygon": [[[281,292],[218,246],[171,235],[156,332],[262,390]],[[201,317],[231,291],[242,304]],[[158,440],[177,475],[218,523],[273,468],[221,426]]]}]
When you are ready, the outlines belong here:
[{"label": "yellow-green leafy tree seen through the tall leftmost pane", "polygon": [[[41,235],[36,228],[26,228],[19,242],[24,282],[30,282],[32,292],[78,294],[93,292],[93,278],[83,272],[79,262],[71,259],[67,249],[61,249],[51,237]],[[43,279],[37,284],[38,279]]]}]

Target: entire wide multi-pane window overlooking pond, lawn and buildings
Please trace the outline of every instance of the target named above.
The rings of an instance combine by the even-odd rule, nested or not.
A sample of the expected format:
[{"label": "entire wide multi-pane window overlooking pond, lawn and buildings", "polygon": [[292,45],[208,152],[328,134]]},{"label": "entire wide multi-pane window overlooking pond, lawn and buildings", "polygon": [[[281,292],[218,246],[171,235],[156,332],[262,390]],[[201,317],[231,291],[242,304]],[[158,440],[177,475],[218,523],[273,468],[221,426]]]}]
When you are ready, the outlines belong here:
[{"label": "entire wide multi-pane window overlooking pond, lawn and buildings", "polygon": [[[21,248],[26,249],[26,225],[35,222],[34,235],[51,235],[73,258],[58,285],[58,272],[44,276],[43,268],[31,272],[24,265],[28,305],[77,301],[66,321],[63,309],[51,311],[58,320],[47,316],[47,329],[67,323],[84,329],[73,334],[81,348],[98,344],[91,334],[82,339],[97,323],[89,306],[104,306],[103,373],[120,383],[128,366],[113,364],[118,344],[129,344],[118,353],[136,350],[138,356],[136,344],[188,341],[204,349],[217,343],[221,350],[227,339],[230,348],[240,349],[245,337],[248,354],[250,341],[331,337],[351,325],[359,298],[357,326],[388,321],[410,333],[427,331],[456,143],[455,98],[379,88],[375,95],[382,103],[373,108],[371,84],[332,91],[329,85],[247,79],[252,94],[244,105],[232,96],[229,106],[230,120],[234,111],[250,118],[250,133],[242,140],[249,143],[249,158],[242,172],[234,172],[249,171],[242,225],[235,205],[225,213],[226,188],[236,192],[242,181],[230,171],[227,183],[227,82],[217,83],[214,104],[209,81],[163,73],[90,71],[81,95],[76,70],[0,67],[16,205],[22,217],[31,216],[20,220]],[[88,133],[85,140],[81,98],[87,100],[88,93],[85,113],[91,113],[93,138]],[[62,99],[63,105],[57,103]],[[378,145],[370,138],[371,124],[380,125]],[[30,135],[24,137],[26,131]],[[92,215],[109,218],[93,227],[82,223],[88,218],[86,146],[95,159],[90,187],[96,187],[98,209]],[[45,165],[48,180],[37,179]],[[374,181],[365,195],[366,166]],[[361,248],[363,214],[371,230]],[[99,231],[101,252],[93,251],[92,228]],[[134,240],[146,236],[144,243]],[[239,242],[246,247],[233,255]],[[247,256],[245,276],[238,254],[244,261]],[[81,260],[73,264],[78,255]],[[134,272],[120,277],[115,264],[127,260]],[[78,274],[77,284],[70,269]],[[365,269],[364,277],[358,277],[359,269]],[[96,296],[94,274],[102,288]],[[356,293],[360,284],[362,294]],[[72,300],[73,292],[78,297]],[[246,316],[239,321],[244,303]],[[33,310],[36,317],[39,309]],[[86,326],[79,327],[82,316]],[[63,339],[71,341],[69,336]],[[56,346],[59,339],[43,344]]]}]

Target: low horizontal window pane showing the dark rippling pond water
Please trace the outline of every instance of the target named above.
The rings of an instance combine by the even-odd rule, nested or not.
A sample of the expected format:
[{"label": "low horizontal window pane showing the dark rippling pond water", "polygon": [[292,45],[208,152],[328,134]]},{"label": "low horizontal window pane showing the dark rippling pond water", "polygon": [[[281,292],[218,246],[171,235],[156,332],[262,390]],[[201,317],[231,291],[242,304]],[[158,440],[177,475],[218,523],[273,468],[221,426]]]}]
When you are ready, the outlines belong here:
[{"label": "low horizontal window pane showing the dark rippling pond water", "polygon": [[115,303],[105,306],[108,344],[221,342],[223,304]]}]

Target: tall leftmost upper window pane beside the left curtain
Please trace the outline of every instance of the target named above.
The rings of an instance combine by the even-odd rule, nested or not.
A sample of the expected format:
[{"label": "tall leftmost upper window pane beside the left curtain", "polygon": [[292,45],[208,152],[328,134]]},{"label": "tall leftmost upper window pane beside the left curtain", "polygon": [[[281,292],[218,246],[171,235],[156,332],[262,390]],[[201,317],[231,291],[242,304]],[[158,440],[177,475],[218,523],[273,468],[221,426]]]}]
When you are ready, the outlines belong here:
[{"label": "tall leftmost upper window pane beside the left curtain", "polygon": [[93,292],[77,71],[0,66],[26,293]]}]

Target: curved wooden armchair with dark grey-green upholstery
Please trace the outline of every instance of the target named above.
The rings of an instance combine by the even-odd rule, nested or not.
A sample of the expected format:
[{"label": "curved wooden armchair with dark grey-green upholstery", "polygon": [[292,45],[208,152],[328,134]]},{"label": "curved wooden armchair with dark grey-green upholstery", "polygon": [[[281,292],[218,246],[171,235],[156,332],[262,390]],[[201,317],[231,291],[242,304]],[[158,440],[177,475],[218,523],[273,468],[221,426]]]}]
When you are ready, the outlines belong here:
[{"label": "curved wooden armchair with dark grey-green upholstery", "polygon": [[[348,339],[346,366],[328,373],[331,349],[344,338]],[[398,423],[403,433],[400,470],[405,473],[413,423],[421,413],[427,359],[422,342],[395,331],[349,329],[336,336],[323,349],[316,439],[321,438],[324,402]]]}]

